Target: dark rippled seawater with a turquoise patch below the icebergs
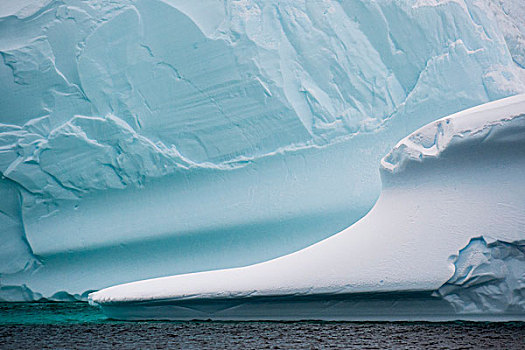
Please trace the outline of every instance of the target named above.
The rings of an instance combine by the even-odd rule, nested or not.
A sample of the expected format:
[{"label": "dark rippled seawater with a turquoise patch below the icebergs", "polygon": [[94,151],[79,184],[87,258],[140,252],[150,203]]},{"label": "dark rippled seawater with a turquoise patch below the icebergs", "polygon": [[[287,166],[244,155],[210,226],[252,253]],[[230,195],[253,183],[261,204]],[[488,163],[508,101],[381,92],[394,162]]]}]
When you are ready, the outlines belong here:
[{"label": "dark rippled seawater with a turquoise patch below the icebergs", "polygon": [[525,324],[119,322],[84,303],[0,304],[0,349],[525,349]]}]

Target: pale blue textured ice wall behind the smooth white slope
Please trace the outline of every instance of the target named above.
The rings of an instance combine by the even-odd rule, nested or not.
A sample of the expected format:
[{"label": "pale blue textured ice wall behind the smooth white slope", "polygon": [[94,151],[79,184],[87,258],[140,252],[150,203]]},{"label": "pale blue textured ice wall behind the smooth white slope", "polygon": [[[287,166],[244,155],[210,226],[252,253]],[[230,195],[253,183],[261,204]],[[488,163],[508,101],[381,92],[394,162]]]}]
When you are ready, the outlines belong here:
[{"label": "pale blue textured ice wall behind the smooth white slope", "polygon": [[0,297],[241,266],[343,229],[397,140],[525,91],[523,13],[2,1]]}]

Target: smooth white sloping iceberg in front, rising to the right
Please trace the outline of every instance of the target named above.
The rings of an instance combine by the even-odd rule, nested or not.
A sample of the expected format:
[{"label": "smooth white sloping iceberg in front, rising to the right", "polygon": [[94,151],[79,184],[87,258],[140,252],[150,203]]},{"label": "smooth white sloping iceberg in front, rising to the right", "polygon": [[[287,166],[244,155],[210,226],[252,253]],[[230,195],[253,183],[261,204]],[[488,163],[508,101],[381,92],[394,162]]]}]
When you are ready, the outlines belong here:
[{"label": "smooth white sloping iceberg in front, rising to the right", "polygon": [[123,319],[524,320],[525,95],[422,127],[381,173],[374,208],[308,248],[89,299]]}]

